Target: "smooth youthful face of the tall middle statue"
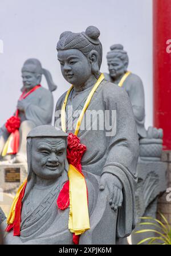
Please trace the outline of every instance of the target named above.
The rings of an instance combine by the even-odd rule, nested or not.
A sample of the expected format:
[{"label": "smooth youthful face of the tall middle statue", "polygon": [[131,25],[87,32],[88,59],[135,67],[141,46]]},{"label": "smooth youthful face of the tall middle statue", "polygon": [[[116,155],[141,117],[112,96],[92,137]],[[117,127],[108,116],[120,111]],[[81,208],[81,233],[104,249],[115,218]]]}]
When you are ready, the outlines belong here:
[{"label": "smooth youthful face of the tall middle statue", "polygon": [[92,74],[91,63],[77,49],[58,51],[58,60],[62,75],[70,84],[82,86]]}]

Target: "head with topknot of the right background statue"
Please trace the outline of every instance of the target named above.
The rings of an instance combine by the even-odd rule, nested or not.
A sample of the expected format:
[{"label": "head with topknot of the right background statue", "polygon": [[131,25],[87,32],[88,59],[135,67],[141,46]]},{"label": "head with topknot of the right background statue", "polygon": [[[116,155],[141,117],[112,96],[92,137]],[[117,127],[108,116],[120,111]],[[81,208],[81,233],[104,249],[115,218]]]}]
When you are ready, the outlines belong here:
[{"label": "head with topknot of the right background statue", "polygon": [[113,79],[117,79],[127,72],[128,54],[121,44],[113,44],[110,49],[111,51],[107,53],[109,74]]}]

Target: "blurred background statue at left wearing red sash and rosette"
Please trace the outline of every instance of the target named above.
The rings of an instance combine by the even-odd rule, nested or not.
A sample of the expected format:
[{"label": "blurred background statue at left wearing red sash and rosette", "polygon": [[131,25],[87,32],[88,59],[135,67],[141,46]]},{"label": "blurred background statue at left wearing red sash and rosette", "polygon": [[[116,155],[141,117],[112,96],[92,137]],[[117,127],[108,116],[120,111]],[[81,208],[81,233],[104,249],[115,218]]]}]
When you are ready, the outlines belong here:
[{"label": "blurred background statue at left wearing red sash and rosette", "polygon": [[[42,75],[47,80],[49,90],[40,86]],[[17,111],[0,128],[0,156],[3,156],[1,161],[13,159],[11,162],[25,163],[28,132],[38,125],[51,124],[53,112],[52,91],[56,89],[56,86],[52,82],[50,72],[42,68],[38,59],[27,59],[22,67],[22,79],[22,96],[18,100]],[[14,143],[9,139],[10,135],[13,137],[12,141]],[[11,144],[15,145],[15,149],[12,151]]]}]

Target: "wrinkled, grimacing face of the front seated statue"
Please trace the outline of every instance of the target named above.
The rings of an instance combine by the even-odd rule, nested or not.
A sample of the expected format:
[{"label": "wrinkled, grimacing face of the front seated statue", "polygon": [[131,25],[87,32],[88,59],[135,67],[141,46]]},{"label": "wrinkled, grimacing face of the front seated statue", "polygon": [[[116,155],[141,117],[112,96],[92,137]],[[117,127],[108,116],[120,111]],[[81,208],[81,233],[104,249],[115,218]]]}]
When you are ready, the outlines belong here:
[{"label": "wrinkled, grimacing face of the front seated statue", "polygon": [[65,160],[66,141],[63,138],[32,139],[32,170],[40,178],[58,178],[64,170]]}]

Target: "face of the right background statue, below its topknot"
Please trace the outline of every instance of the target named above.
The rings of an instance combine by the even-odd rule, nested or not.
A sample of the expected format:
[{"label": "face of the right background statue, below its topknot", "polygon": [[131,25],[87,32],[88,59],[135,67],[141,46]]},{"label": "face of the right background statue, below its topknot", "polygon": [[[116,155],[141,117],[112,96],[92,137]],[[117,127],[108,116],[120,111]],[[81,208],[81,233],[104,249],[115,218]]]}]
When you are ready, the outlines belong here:
[{"label": "face of the right background statue, below its topknot", "polygon": [[107,58],[109,74],[113,79],[119,78],[127,71],[123,60],[120,58]]}]

